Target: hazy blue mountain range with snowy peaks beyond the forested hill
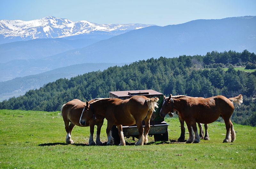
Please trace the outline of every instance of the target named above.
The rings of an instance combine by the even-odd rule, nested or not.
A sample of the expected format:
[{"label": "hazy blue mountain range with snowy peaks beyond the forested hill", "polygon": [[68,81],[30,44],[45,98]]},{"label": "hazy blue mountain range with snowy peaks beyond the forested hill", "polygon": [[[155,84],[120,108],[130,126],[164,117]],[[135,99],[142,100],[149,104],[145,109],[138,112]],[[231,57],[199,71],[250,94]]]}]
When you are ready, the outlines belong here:
[{"label": "hazy blue mountain range with snowy peaks beyond the forested hill", "polygon": [[[6,89],[8,92],[5,94],[11,96],[17,95],[15,91],[24,93],[35,86],[38,88],[42,83],[52,81],[52,77],[71,77],[67,74],[59,76],[61,73],[56,76],[49,70],[82,63],[124,63],[160,56],[205,55],[209,51],[242,52],[247,49],[256,52],[255,27],[255,16],[199,19],[168,26],[100,25],[55,17],[33,21],[1,20],[0,43],[4,44],[0,44],[0,82],[24,77],[1,82],[5,88],[16,86],[13,90]],[[10,41],[14,42],[7,43]],[[84,72],[78,67],[72,67],[77,70],[77,74],[72,76]],[[90,66],[87,68],[94,70]],[[99,70],[97,66],[95,68]],[[65,73],[66,68],[60,70]],[[50,78],[39,74],[46,71]],[[34,82],[40,81],[40,85],[33,85],[31,79],[36,78],[28,75],[35,74],[48,81],[36,77]],[[16,83],[30,86],[21,90],[24,87],[18,89]],[[0,97],[7,98],[3,94]]]}]

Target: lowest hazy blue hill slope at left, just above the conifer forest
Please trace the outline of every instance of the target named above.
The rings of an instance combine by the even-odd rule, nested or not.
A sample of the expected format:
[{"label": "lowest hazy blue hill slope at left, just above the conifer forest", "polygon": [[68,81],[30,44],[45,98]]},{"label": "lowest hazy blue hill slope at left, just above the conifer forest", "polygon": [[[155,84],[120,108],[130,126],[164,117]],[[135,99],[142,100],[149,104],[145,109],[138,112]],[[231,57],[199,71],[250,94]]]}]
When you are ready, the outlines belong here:
[{"label": "lowest hazy blue hill slope at left, just above the conifer forest", "polygon": [[124,63],[83,63],[0,82],[0,101],[13,96],[18,97],[24,95],[28,90],[39,89],[44,84],[54,82],[59,78],[70,78],[91,71],[102,71],[110,66],[116,65],[123,66]]}]

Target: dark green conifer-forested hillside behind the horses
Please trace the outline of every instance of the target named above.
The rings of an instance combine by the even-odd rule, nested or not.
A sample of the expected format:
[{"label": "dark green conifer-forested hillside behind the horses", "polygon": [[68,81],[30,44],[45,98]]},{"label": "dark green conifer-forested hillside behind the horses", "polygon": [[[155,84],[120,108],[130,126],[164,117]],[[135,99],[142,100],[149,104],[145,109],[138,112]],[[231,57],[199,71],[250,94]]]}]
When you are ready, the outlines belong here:
[{"label": "dark green conifer-forested hillside behind the horses", "polygon": [[[233,121],[256,125],[256,72],[236,71],[234,66],[254,65],[256,56],[244,50],[208,52],[206,55],[148,59],[122,67],[59,79],[24,96],[0,103],[0,109],[56,111],[72,99],[83,101],[108,97],[109,91],[153,89],[165,95],[227,98],[243,94],[244,103],[236,108]],[[228,70],[224,71],[223,67]]]}]

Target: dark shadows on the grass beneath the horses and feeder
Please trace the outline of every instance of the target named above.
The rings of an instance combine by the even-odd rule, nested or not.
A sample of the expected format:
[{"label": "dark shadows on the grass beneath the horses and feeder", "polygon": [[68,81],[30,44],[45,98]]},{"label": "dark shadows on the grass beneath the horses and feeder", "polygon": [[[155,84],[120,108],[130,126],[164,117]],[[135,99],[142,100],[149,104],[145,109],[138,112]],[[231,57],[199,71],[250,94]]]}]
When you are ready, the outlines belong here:
[{"label": "dark shadows on the grass beneath the horses and feeder", "polygon": [[[176,140],[169,140],[169,141],[157,141],[157,142],[149,142],[146,145],[158,145],[158,144],[174,144],[174,143],[186,143],[186,142],[178,142]],[[68,145],[67,143],[44,143],[44,144],[38,144],[38,146],[55,146],[55,145]],[[89,144],[85,143],[74,143],[72,145],[75,146],[90,146]],[[135,145],[135,143],[127,143],[125,142],[125,145]],[[98,146],[107,146],[107,142],[102,143],[101,145]]]}]

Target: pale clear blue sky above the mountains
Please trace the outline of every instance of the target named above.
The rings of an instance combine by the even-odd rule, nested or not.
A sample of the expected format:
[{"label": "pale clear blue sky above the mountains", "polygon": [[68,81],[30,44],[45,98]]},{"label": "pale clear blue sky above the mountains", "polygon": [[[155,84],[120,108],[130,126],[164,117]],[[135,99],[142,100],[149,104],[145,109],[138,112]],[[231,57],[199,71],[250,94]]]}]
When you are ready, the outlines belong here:
[{"label": "pale clear blue sky above the mountains", "polygon": [[46,16],[94,23],[142,23],[165,26],[195,19],[256,15],[255,0],[0,0],[0,20]]}]

